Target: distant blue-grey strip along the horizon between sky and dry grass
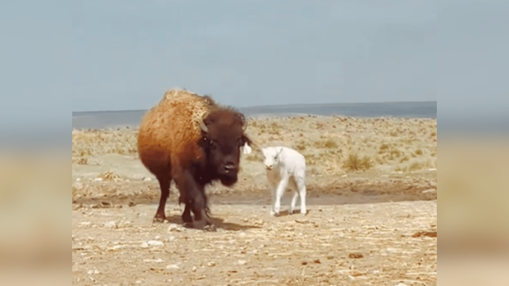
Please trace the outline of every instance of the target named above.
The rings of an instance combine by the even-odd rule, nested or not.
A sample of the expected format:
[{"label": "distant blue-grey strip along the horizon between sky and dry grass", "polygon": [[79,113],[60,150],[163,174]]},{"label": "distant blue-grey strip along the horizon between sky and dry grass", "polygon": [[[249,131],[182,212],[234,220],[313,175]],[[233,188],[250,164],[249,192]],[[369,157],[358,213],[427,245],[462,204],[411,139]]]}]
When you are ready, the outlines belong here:
[{"label": "distant blue-grey strip along the horizon between sky and dry grass", "polygon": [[[436,118],[436,101],[267,105],[238,108],[246,117],[295,115]],[[72,128],[136,128],[147,110],[76,111]]]}]

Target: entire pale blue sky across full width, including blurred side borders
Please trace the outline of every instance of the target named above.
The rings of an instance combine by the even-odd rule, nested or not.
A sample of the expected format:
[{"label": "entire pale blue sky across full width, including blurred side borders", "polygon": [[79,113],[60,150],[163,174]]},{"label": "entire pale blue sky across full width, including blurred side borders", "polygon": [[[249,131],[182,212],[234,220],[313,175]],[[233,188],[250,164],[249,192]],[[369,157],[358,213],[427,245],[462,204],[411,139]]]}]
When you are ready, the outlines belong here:
[{"label": "entire pale blue sky across full width, including blurred side borders", "polygon": [[438,96],[440,118],[505,115],[508,8],[503,0],[2,1],[0,127],[70,125],[69,109],[146,109],[172,87],[238,107]]}]

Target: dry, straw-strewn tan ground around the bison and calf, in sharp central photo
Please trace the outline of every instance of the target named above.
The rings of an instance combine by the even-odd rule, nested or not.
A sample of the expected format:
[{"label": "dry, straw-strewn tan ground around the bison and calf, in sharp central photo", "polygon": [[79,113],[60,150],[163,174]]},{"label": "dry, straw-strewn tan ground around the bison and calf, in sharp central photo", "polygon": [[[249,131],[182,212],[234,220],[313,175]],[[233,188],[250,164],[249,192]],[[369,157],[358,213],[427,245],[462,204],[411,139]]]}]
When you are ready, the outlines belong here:
[{"label": "dry, straw-strewn tan ground around the bison and calf, in sharp central photo", "polygon": [[[308,214],[269,215],[261,154],[207,192],[216,232],[181,226],[172,184],[136,154],[136,130],[73,130],[73,285],[436,285],[436,119],[249,120],[259,146],[306,157]],[[297,204],[298,206],[298,204]]]}]

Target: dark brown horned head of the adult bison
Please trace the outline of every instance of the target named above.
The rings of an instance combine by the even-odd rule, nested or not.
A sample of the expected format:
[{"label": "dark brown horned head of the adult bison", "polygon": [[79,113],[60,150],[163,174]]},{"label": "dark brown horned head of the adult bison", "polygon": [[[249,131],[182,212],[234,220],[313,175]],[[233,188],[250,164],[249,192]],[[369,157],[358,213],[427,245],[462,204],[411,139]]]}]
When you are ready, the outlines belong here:
[{"label": "dark brown horned head of the adult bison", "polygon": [[237,182],[240,148],[251,144],[244,128],[244,116],[231,108],[211,111],[202,123],[201,144],[207,154],[208,168],[225,186]]}]

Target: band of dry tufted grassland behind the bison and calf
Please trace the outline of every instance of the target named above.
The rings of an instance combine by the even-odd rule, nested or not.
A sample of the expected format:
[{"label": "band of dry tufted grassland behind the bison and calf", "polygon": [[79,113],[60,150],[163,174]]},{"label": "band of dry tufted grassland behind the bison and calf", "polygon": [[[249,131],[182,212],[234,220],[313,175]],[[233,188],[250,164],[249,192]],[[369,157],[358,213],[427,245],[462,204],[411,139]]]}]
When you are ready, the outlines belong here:
[{"label": "band of dry tufted grassland behind the bison and calf", "polygon": [[[308,116],[259,118],[247,120],[247,133],[261,147],[294,148],[320,174],[368,168],[385,174],[436,167],[436,122],[436,119]],[[100,162],[102,155],[111,153],[136,158],[137,130],[72,131],[73,165]],[[243,159],[246,163],[261,162],[263,156],[255,152],[243,155]]]}]

